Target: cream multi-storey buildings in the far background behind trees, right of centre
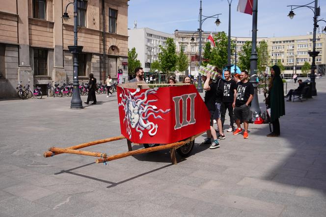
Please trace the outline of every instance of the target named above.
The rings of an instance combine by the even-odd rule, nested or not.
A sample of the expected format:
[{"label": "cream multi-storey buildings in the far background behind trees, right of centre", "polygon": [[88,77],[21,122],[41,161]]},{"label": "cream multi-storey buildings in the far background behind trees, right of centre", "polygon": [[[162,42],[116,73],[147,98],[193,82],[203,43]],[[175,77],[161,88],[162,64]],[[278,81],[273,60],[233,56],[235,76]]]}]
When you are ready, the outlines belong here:
[{"label": "cream multi-storey buildings in the far background behind trees, right of centre", "polygon": [[[208,36],[211,32],[202,33],[202,47],[208,42]],[[212,33],[213,35],[216,32]],[[180,31],[175,30],[175,43],[177,47],[177,53],[181,50],[188,55],[189,67],[188,71],[184,75],[198,76],[198,56],[199,56],[199,34],[195,31]],[[194,37],[194,41],[191,42],[191,37]],[[243,52],[243,45],[246,41],[251,41],[251,37],[231,37],[232,40],[237,41],[237,58],[235,55],[231,55],[231,63],[234,64],[235,59],[238,58],[239,54]],[[257,38],[257,46],[260,42],[265,40],[268,45],[270,54],[270,65],[275,64],[278,60],[282,62],[285,67],[284,74],[287,77],[292,76],[293,73],[301,74],[301,68],[304,62],[311,64],[312,58],[308,52],[312,51],[312,35],[302,36],[288,36],[288,37],[260,37]],[[316,51],[320,54],[316,57],[317,70],[325,73],[326,64],[326,35],[317,34]],[[203,54],[203,50],[202,50]],[[191,58],[192,56],[192,58]],[[324,70],[324,71],[323,71]],[[182,73],[179,73],[182,74]]]}]

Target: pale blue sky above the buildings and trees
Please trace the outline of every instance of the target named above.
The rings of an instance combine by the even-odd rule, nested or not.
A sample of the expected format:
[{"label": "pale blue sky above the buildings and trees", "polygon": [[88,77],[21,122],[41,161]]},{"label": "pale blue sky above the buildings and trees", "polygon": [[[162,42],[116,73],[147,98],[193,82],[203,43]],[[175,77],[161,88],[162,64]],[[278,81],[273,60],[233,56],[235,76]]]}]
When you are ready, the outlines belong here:
[{"label": "pale blue sky above the buildings and trees", "polygon": [[[239,0],[231,3],[231,36],[250,37],[252,16],[237,11]],[[313,12],[309,8],[294,10],[291,20],[287,15],[291,10],[287,5],[304,5],[312,0],[258,0],[257,37],[282,37],[306,35],[313,31]],[[319,0],[321,16],[326,20],[326,0]],[[200,0],[130,0],[128,8],[128,28],[149,27],[166,33],[175,29],[195,31],[199,28]],[[314,6],[314,4],[311,4]],[[229,4],[227,0],[202,0],[204,16],[219,15],[221,24],[217,27],[214,18],[204,21],[204,31],[228,32]],[[326,26],[319,22],[320,31]],[[318,29],[317,29],[318,33]]]}]

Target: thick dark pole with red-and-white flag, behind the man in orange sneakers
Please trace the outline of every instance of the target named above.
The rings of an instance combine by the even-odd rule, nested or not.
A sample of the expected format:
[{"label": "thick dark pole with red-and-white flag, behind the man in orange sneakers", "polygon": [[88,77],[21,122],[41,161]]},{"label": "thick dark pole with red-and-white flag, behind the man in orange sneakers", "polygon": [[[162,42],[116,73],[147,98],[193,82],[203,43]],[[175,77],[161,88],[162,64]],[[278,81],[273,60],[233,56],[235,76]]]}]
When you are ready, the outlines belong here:
[{"label": "thick dark pole with red-and-white flag, behind the man in orange sneakers", "polygon": [[[251,103],[250,110],[252,111],[253,119],[256,119],[262,113],[259,108],[258,91],[257,91],[257,13],[258,13],[258,0],[253,0],[252,3],[252,39],[251,39],[251,56],[250,56],[250,82],[255,88],[255,93]],[[256,75],[256,76],[253,76]]]}]

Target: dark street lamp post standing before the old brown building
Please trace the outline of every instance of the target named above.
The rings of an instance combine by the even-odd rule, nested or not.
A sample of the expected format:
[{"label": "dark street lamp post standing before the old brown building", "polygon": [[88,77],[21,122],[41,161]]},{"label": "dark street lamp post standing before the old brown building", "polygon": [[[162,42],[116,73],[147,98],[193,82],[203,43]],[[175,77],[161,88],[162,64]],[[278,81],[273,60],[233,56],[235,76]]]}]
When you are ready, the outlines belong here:
[{"label": "dark street lamp post standing before the old brown building", "polygon": [[81,94],[79,92],[79,80],[78,80],[78,54],[81,54],[82,46],[78,46],[78,37],[77,37],[77,25],[78,25],[78,6],[77,6],[77,0],[74,0],[74,2],[70,2],[66,6],[66,10],[62,15],[62,18],[67,21],[69,19],[68,13],[67,13],[67,7],[69,4],[74,4],[74,46],[68,46],[68,49],[70,53],[73,54],[74,63],[73,63],[73,96],[70,102],[70,109],[83,109],[82,107],[82,101],[81,101]]}]

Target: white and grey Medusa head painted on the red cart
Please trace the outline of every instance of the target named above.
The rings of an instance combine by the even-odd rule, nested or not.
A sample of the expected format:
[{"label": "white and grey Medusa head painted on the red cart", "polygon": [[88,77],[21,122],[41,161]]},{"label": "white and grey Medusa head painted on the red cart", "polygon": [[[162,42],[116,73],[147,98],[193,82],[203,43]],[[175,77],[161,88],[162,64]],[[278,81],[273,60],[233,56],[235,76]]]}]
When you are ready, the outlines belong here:
[{"label": "white and grey Medusa head painted on the red cart", "polygon": [[[150,136],[154,136],[157,133],[158,125],[154,122],[148,120],[150,116],[155,119],[163,119],[158,113],[167,113],[170,109],[158,109],[156,106],[151,105],[151,103],[156,102],[155,100],[148,100],[147,97],[150,94],[157,93],[158,88],[147,89],[145,92],[137,95],[140,89],[137,88],[135,92],[131,92],[129,89],[122,88],[120,93],[121,103],[119,107],[122,106],[125,111],[125,116],[123,123],[127,127],[127,133],[129,138],[132,137],[131,128],[135,129],[139,133],[139,138],[143,136],[143,131],[148,130]],[[136,96],[137,95],[137,96]]]}]

